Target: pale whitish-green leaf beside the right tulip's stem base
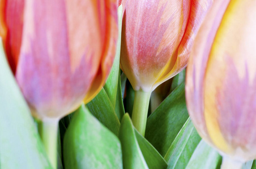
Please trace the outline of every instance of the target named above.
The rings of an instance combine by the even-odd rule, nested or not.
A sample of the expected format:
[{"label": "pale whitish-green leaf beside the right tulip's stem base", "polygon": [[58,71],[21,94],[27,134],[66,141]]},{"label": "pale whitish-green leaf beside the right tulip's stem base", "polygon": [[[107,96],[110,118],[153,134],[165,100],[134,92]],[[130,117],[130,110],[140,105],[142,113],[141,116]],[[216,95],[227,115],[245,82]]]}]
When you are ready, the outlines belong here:
[{"label": "pale whitish-green leaf beside the right tulip's stem base", "polygon": [[186,169],[215,169],[220,165],[220,162],[221,156],[219,153],[210,145],[201,140],[197,148],[194,150]]}]

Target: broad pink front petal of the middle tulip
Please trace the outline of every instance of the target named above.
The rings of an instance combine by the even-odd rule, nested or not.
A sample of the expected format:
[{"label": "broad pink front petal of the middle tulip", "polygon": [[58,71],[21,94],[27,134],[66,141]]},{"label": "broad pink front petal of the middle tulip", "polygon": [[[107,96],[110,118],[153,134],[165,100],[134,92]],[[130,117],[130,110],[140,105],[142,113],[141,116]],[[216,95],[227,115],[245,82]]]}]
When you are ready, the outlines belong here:
[{"label": "broad pink front petal of the middle tulip", "polygon": [[180,44],[189,16],[189,1],[126,2],[123,16],[121,68],[134,90],[152,91]]}]

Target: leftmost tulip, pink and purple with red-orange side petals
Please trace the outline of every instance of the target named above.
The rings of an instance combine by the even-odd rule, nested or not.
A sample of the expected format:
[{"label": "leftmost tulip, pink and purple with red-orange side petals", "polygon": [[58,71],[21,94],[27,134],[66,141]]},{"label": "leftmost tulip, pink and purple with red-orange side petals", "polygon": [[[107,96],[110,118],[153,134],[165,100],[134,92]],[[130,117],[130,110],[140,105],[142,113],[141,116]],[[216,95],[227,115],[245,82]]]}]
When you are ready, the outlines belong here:
[{"label": "leftmost tulip, pink and purple with red-orange side petals", "polygon": [[44,142],[57,134],[60,118],[103,87],[116,52],[117,2],[6,0],[0,10],[7,59],[33,116],[43,122]]}]

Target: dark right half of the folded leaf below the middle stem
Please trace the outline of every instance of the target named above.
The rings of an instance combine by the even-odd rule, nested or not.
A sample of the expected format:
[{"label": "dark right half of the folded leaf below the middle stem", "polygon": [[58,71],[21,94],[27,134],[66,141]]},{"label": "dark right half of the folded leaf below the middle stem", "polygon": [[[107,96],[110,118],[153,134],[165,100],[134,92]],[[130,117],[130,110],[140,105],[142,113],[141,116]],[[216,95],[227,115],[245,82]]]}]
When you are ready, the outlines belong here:
[{"label": "dark right half of the folded leaf below the middle stem", "polygon": [[167,168],[167,163],[157,150],[134,128],[136,140],[139,148],[142,151],[143,157],[148,165],[148,168]]}]

